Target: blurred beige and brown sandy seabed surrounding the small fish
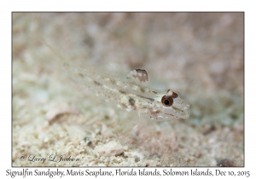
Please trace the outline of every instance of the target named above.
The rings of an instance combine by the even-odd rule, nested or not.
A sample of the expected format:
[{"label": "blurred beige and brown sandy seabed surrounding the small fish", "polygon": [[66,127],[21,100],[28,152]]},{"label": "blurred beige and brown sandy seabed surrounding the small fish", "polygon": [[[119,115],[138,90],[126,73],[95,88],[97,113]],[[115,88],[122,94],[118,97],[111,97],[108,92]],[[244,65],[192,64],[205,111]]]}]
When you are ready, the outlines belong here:
[{"label": "blurred beige and brown sandy seabed surrounding the small fish", "polygon": [[[18,156],[48,156],[56,146],[82,160],[72,165],[243,165],[243,13],[13,13],[12,20],[14,165],[42,165]],[[69,80],[75,65],[61,70],[43,41],[73,64],[111,64],[120,77],[147,70],[152,87],[190,104],[190,117],[126,136],[120,129],[137,117],[102,105]],[[45,119],[63,104],[81,115]],[[106,145],[122,152],[102,154]]]}]

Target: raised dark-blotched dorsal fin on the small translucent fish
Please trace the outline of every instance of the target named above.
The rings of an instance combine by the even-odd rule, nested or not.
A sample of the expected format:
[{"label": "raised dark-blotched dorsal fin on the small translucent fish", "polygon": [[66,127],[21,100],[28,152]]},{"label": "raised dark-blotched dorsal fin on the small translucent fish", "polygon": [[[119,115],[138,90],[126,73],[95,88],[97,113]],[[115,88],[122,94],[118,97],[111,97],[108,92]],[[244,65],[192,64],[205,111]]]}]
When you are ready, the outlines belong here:
[{"label": "raised dark-blotched dorsal fin on the small translucent fish", "polygon": [[137,84],[140,86],[147,86],[148,84],[148,72],[142,69],[136,69],[131,71],[127,75],[127,79],[131,80],[131,83]]}]

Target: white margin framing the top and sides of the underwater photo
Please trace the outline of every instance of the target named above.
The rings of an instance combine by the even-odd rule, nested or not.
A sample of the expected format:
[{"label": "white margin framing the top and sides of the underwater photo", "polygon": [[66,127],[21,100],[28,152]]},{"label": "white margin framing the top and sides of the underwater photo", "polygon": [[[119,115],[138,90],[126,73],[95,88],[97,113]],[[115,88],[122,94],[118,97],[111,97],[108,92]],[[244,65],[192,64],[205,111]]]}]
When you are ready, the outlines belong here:
[{"label": "white margin framing the top and sides of the underwater photo", "polygon": [[[245,168],[255,176],[255,119],[256,91],[255,22],[253,1],[2,1],[1,9],[1,176],[11,169],[11,12],[12,11],[245,11]],[[180,169],[188,170],[188,169]],[[237,170],[241,170],[237,169]],[[182,178],[182,177],[180,177]]]}]

